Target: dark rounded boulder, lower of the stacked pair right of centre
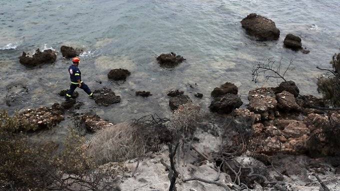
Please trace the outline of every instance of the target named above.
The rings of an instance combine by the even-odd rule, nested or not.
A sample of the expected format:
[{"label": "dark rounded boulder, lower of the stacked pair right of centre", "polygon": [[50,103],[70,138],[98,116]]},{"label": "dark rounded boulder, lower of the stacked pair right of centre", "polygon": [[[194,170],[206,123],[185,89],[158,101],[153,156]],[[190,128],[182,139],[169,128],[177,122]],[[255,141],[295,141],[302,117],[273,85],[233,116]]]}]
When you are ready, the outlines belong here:
[{"label": "dark rounded boulder, lower of the stacked pair right of centre", "polygon": [[228,114],[232,110],[239,108],[243,102],[234,94],[226,94],[218,97],[214,97],[209,106],[210,111],[217,112],[219,114]]}]

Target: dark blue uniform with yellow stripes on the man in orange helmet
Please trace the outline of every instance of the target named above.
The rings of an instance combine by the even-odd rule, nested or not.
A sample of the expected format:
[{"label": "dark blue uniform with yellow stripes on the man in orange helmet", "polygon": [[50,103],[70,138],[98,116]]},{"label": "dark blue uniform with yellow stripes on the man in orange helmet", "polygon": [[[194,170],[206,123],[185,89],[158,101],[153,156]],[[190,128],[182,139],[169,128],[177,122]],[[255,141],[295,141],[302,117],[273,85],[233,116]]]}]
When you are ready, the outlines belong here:
[{"label": "dark blue uniform with yellow stripes on the man in orange helmet", "polygon": [[68,73],[69,73],[69,78],[71,80],[71,85],[69,86],[69,90],[67,91],[66,97],[72,97],[72,94],[75,90],[75,88],[77,88],[79,86],[78,84],[78,80],[80,80],[81,83],[81,89],[84,90],[88,96],[92,96],[93,93],[91,92],[91,90],[88,88],[88,86],[81,81],[81,72],[78,68],[78,66],[76,65],[70,65],[68,67]]}]

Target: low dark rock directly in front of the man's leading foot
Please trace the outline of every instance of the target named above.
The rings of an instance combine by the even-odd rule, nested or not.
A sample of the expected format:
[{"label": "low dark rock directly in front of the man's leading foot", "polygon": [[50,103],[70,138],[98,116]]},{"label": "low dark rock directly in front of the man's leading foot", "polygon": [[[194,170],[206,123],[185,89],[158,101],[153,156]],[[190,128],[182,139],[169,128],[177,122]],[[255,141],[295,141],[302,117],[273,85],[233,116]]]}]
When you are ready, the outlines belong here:
[{"label": "low dark rock directly in front of the man's leading foot", "polygon": [[94,102],[97,105],[109,106],[111,104],[119,103],[120,96],[116,96],[111,89],[102,88],[93,91]]}]

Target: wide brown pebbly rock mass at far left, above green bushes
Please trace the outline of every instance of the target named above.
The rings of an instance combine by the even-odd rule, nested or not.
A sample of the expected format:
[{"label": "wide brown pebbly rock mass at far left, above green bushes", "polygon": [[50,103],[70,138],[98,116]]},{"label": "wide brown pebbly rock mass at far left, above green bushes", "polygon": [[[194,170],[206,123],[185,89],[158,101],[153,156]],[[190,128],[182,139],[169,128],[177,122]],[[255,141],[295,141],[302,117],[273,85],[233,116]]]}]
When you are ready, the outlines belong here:
[{"label": "wide brown pebbly rock mass at far left, above green bushes", "polygon": [[51,128],[60,123],[64,116],[63,109],[58,103],[52,105],[52,107],[40,107],[37,109],[25,109],[19,112],[22,116],[21,120],[29,122],[32,125],[32,129],[27,131],[37,131],[44,128]]}]

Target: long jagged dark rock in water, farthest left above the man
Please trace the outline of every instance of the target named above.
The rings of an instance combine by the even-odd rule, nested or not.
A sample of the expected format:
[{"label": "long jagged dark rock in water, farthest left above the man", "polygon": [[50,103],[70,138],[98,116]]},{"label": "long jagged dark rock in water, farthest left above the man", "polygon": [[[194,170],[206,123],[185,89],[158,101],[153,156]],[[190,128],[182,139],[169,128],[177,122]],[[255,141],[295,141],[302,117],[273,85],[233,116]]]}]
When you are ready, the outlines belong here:
[{"label": "long jagged dark rock in water, farthest left above the man", "polygon": [[56,60],[56,54],[53,50],[48,49],[43,52],[40,49],[36,49],[35,53],[32,56],[29,56],[28,53],[22,52],[22,55],[19,57],[19,62],[25,66],[37,66],[39,64],[45,63],[53,63]]}]

